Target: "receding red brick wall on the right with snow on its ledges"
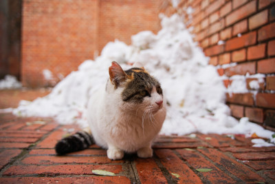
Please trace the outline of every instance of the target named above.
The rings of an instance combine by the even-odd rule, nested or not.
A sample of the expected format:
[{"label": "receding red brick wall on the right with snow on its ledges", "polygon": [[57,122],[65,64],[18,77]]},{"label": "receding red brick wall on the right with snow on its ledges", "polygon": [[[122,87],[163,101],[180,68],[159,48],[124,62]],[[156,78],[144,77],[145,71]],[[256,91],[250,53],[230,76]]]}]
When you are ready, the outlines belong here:
[{"label": "receding red brick wall on the right with snow on its ledges", "polygon": [[[236,118],[248,116],[250,121],[272,129],[275,127],[275,1],[274,0],[188,0],[181,1],[177,12],[191,6],[195,41],[210,57],[210,64],[228,78],[235,74],[264,74],[265,83],[258,91],[248,88],[245,94],[227,95]],[[176,10],[171,6],[165,12]],[[186,21],[188,18],[186,16]],[[238,37],[238,34],[241,37]],[[239,35],[240,36],[240,35]],[[219,45],[218,41],[224,41]],[[252,79],[248,79],[249,83]],[[225,80],[225,86],[230,80]],[[254,92],[257,94],[254,96]]]}]

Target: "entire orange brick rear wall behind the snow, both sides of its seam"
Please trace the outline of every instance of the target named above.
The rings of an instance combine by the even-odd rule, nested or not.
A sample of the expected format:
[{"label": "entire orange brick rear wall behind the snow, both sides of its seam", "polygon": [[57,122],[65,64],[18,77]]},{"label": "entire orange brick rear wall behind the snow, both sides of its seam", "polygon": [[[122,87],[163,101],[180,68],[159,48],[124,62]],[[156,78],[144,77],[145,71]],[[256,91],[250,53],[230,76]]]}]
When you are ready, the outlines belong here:
[{"label": "entire orange brick rear wall behind the snow, both sides of its seam", "polygon": [[[142,30],[159,30],[159,0],[24,0],[23,85],[54,85],[109,41],[131,42]],[[54,79],[43,80],[43,70]]]}]

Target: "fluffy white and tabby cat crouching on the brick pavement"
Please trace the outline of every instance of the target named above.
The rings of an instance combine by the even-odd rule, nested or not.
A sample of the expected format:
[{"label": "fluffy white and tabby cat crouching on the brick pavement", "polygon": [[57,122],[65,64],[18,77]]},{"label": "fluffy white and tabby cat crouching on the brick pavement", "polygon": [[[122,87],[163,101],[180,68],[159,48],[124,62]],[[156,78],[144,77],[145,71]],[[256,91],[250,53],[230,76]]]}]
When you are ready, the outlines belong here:
[{"label": "fluffy white and tabby cat crouching on the brick pavement", "polygon": [[122,159],[125,152],[148,158],[166,117],[166,99],[159,81],[140,63],[124,71],[113,61],[106,85],[91,96],[87,112],[90,128],[58,141],[57,154],[96,143],[111,160]]}]

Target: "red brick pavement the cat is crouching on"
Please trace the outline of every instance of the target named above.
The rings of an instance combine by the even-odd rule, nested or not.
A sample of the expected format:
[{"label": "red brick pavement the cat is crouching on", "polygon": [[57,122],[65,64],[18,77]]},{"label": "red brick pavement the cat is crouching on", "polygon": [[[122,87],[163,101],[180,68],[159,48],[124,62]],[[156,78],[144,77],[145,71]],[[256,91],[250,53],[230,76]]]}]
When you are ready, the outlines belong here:
[{"label": "red brick pavement the cat is crouching on", "polygon": [[0,183],[275,183],[275,147],[252,147],[243,135],[159,136],[150,159],[111,161],[97,145],[56,156],[56,141],[72,130],[79,128],[0,114]]}]

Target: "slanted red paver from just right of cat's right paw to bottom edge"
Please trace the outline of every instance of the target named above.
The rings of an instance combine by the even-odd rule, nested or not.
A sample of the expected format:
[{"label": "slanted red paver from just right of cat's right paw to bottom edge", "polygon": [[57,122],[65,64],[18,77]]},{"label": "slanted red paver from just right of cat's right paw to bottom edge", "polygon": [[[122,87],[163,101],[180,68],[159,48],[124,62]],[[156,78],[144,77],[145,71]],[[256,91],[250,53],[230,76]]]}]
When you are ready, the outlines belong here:
[{"label": "slanted red paver from just right of cat's right paw to bottom edge", "polygon": [[172,150],[155,150],[155,154],[170,174],[179,174],[179,177],[172,175],[175,181],[179,183],[202,183],[199,176],[190,170]]}]

